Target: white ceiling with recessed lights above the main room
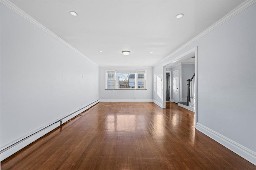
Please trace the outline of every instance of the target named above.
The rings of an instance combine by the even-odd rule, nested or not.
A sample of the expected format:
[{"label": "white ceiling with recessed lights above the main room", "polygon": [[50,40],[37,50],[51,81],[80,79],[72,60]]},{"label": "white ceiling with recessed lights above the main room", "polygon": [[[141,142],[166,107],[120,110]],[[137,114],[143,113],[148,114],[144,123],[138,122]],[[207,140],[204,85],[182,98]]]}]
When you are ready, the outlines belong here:
[{"label": "white ceiling with recessed lights above the main room", "polygon": [[[99,66],[153,66],[243,1],[10,2]],[[176,19],[180,13],[184,16]],[[124,56],[125,50],[130,55]]]}]

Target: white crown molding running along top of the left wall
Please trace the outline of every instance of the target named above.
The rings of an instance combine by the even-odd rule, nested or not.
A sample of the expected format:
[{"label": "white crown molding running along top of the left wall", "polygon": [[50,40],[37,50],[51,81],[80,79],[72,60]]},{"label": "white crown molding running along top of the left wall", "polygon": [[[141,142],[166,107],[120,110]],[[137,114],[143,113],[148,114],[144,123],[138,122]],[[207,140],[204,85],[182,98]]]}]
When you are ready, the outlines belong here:
[{"label": "white crown molding running along top of the left wall", "polygon": [[44,25],[42,25],[41,23],[39,23],[38,21],[36,21],[34,18],[32,18],[31,16],[29,16],[28,14],[26,14],[26,12],[24,12],[23,10],[21,10],[20,8],[18,8],[16,5],[12,4],[12,2],[10,2],[9,0],[0,0],[0,2],[2,4],[4,4],[5,6],[7,6],[8,8],[10,8],[11,10],[13,10],[14,12],[16,12],[17,14],[19,14],[20,16],[22,16],[23,18],[25,18],[26,20],[30,21],[31,23],[33,23],[34,25],[36,25],[38,28],[42,29],[44,32],[48,33],[49,35],[51,35],[52,37],[54,37],[55,39],[57,39],[58,41],[60,41],[62,44],[66,45],[68,48],[72,49],[74,52],[78,53],[79,55],[81,55],[82,57],[84,57],[85,59],[87,59],[88,61],[92,62],[93,64],[95,64],[96,66],[99,66],[98,64],[96,64],[94,61],[92,61],[91,59],[89,59],[88,57],[86,57],[83,53],[81,53],[80,51],[78,51],[77,49],[75,49],[72,45],[70,45],[69,43],[67,43],[66,41],[64,41],[63,39],[61,39],[60,37],[58,37],[58,35],[54,34],[52,31],[50,31],[48,28],[46,28]]}]

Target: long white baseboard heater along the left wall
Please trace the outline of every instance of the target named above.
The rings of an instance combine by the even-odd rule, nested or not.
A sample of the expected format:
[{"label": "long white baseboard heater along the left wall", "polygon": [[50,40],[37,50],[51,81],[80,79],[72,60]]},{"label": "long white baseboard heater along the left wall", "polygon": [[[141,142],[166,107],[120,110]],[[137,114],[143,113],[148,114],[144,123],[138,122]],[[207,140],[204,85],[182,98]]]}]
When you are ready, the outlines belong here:
[{"label": "long white baseboard heater along the left wall", "polygon": [[[96,100],[95,102],[98,102],[98,101],[99,101],[99,100]],[[94,104],[95,102],[92,102],[91,104]],[[48,125],[48,126],[42,128],[42,129],[40,129],[39,131],[36,131],[35,133],[32,133],[31,135],[29,135],[29,136],[27,136],[27,137],[21,139],[20,141],[14,143],[14,144],[12,144],[12,145],[10,145],[9,147],[6,147],[5,149],[3,149],[3,150],[0,151],[0,154],[3,153],[3,152],[5,152],[6,150],[11,149],[12,147],[15,147],[15,146],[18,145],[19,143],[22,143],[22,142],[25,141],[26,139],[28,139],[28,138],[30,138],[30,137],[36,135],[36,134],[39,133],[40,131],[43,131],[44,129],[47,129],[48,127],[50,127],[50,126],[52,126],[52,125],[54,125],[54,124],[56,124],[56,123],[58,123],[58,122],[62,122],[63,119],[65,119],[65,118],[69,117],[70,115],[72,115],[72,114],[74,114],[74,113],[76,113],[76,112],[78,112],[78,111],[80,111],[80,110],[82,110],[82,109],[84,109],[84,108],[90,106],[91,104],[88,104],[87,106],[84,106],[84,107],[82,107],[82,108],[80,108],[80,109],[78,109],[78,110],[76,110],[76,111],[73,111],[73,112],[70,113],[69,115],[66,115],[65,117],[62,117],[61,119],[55,121],[54,123],[52,123],[52,124],[50,124],[50,125]]]}]

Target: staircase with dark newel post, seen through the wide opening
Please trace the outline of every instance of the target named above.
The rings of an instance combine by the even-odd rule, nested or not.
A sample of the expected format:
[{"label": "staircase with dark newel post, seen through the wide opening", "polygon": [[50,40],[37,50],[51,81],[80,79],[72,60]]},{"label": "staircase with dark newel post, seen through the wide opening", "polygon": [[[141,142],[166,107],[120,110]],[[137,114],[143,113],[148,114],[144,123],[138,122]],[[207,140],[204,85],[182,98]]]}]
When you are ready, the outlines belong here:
[{"label": "staircase with dark newel post, seen through the wide opening", "polygon": [[184,107],[185,109],[195,111],[195,74],[191,79],[188,79],[188,95],[186,102],[178,102],[178,106]]}]

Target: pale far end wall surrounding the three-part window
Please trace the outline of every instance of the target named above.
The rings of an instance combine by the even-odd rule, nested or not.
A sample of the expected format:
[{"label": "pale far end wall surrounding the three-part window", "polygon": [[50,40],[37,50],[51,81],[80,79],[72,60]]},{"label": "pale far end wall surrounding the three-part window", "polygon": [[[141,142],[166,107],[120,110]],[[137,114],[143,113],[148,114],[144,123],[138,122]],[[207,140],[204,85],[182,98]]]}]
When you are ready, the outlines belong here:
[{"label": "pale far end wall surrounding the three-part window", "polygon": [[[105,90],[105,70],[146,70],[146,90]],[[152,70],[153,68],[99,68],[99,96],[101,102],[152,102]]]}]

